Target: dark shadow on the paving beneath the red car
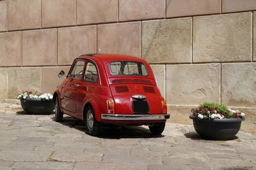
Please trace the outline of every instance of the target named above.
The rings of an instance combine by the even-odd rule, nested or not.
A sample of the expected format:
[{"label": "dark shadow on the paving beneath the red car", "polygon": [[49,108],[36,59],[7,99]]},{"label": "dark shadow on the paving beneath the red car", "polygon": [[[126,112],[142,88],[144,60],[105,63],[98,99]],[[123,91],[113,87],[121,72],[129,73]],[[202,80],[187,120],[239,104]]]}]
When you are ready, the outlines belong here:
[{"label": "dark shadow on the paving beneath the red car", "polygon": [[[55,120],[52,117],[52,120]],[[56,122],[57,123],[57,122]],[[86,133],[85,125],[83,121],[72,118],[71,116],[66,116],[61,122],[62,125],[76,128]],[[138,126],[125,126],[118,127],[114,125],[104,125],[102,133],[97,137],[104,139],[122,139],[122,138],[159,138],[164,137],[164,135],[152,135],[148,128],[138,127]]]}]

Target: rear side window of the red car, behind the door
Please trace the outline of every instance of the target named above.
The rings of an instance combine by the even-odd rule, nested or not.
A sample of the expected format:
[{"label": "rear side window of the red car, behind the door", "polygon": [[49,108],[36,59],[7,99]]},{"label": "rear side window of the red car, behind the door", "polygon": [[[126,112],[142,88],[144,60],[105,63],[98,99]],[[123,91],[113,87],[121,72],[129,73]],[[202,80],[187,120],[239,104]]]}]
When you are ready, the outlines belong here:
[{"label": "rear side window of the red car, behind the door", "polygon": [[84,72],[84,81],[95,83],[97,82],[97,68],[93,63],[87,63]]}]

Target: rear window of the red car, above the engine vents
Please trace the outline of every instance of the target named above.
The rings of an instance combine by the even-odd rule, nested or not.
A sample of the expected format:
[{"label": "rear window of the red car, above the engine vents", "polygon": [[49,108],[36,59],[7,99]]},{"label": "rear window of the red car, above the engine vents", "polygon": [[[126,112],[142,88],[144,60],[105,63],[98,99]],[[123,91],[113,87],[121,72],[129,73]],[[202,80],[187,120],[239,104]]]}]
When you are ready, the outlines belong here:
[{"label": "rear window of the red car, above the engine vents", "polygon": [[113,61],[109,68],[112,75],[148,75],[146,66],[135,61]]}]

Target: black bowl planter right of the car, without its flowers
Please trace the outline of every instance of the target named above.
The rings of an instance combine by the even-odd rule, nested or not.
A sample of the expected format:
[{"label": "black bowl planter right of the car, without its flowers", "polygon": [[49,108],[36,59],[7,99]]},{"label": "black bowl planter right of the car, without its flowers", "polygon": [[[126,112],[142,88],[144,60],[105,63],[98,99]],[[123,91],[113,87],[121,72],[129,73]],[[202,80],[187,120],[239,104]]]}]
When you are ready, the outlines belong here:
[{"label": "black bowl planter right of the car, without its flowers", "polygon": [[190,115],[189,118],[193,120],[194,128],[200,137],[222,141],[234,139],[241,127],[241,121],[245,120],[244,118],[200,120],[193,115]]}]

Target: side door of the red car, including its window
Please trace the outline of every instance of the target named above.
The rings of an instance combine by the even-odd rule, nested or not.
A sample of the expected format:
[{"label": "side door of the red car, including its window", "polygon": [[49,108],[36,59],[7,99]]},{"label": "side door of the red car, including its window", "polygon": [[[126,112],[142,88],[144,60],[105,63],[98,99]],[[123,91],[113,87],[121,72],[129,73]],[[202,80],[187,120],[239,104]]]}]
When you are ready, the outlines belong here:
[{"label": "side door of the red car, including its window", "polygon": [[72,68],[67,77],[67,81],[61,88],[61,107],[65,110],[65,113],[76,116],[77,109],[77,89],[83,82],[84,73],[84,59],[77,59],[74,61]]}]

